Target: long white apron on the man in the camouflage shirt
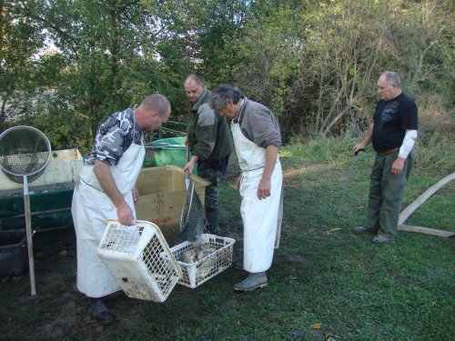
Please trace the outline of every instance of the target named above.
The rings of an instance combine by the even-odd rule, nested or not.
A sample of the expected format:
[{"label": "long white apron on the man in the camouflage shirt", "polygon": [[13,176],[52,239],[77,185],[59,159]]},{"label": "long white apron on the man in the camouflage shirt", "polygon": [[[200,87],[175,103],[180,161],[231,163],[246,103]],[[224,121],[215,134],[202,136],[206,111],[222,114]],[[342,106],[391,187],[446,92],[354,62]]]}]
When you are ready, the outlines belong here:
[{"label": "long white apron on the man in the camouflage shirt", "polygon": [[[144,145],[131,144],[117,165],[110,167],[126,203],[136,210],[131,190],[136,184],[144,155]],[[77,281],[80,292],[89,297],[102,297],[120,290],[116,278],[101,262],[96,252],[106,229],[106,219],[116,218],[116,206],[106,196],[93,172],[84,165],[76,184],[71,208],[76,229]]]}]

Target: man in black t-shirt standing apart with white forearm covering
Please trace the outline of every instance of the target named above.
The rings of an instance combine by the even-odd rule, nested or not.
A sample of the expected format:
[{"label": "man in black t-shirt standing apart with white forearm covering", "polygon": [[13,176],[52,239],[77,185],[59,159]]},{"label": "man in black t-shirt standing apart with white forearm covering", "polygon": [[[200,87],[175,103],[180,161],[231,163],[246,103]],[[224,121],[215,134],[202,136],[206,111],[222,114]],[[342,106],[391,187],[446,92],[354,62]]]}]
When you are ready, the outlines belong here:
[{"label": "man in black t-shirt standing apart with white forearm covering", "polygon": [[353,148],[356,153],[372,142],[376,152],[367,222],[354,228],[354,232],[376,234],[371,241],[377,244],[387,243],[397,235],[401,200],[414,161],[417,105],[401,91],[400,83],[394,72],[386,71],[379,76],[381,100],[365,139]]}]

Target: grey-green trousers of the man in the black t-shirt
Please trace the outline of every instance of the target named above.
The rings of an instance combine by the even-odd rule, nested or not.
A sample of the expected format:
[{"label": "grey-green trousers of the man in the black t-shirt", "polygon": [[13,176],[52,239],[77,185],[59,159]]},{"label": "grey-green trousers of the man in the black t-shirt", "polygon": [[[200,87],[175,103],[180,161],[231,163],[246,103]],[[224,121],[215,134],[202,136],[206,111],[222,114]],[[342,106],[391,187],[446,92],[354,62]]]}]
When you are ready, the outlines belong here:
[{"label": "grey-green trousers of the man in the black t-shirt", "polygon": [[376,155],[369,183],[369,208],[365,226],[380,236],[396,236],[404,188],[414,163],[414,150],[406,158],[399,175],[390,173],[399,152]]}]

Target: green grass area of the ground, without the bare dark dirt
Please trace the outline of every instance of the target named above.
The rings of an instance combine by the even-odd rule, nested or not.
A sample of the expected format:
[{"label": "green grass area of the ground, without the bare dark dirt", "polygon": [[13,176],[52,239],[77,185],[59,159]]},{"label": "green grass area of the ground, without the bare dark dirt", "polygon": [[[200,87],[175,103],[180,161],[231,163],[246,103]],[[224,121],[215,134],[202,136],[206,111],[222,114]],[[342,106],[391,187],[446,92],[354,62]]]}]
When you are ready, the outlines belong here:
[{"label": "green grass area of the ground, without the bare dark dirt", "polygon": [[[369,242],[370,236],[354,236],[351,228],[359,226],[366,213],[374,155],[371,150],[359,154],[348,182],[351,145],[322,141],[284,148],[284,224],[281,247],[268,272],[270,286],[234,293],[232,285],[244,275],[227,270],[189,294],[199,309],[179,316],[167,339],[454,338],[454,240],[403,232],[390,244],[377,246]],[[441,176],[417,165],[403,206]],[[222,223],[241,234],[234,180],[228,178],[220,187]],[[430,201],[410,222],[450,227],[455,190],[449,186],[442,192],[440,204]],[[236,255],[241,256],[239,250]],[[313,329],[317,323],[321,328]],[[140,336],[155,334],[144,330]]]}]

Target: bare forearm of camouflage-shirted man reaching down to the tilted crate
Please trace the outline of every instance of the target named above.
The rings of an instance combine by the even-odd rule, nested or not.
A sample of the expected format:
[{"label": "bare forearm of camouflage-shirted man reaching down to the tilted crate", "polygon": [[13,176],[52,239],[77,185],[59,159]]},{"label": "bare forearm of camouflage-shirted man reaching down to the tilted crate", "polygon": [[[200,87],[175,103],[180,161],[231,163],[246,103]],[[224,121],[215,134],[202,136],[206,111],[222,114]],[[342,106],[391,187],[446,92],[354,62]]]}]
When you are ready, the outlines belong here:
[{"label": "bare forearm of camouflage-shirted man reaching down to the tilted crate", "polygon": [[99,181],[99,184],[104,189],[106,196],[108,196],[114,206],[116,206],[116,215],[118,216],[118,221],[120,224],[126,226],[133,225],[135,216],[133,216],[133,211],[128,206],[125,198],[116,187],[116,182],[112,176],[110,165],[102,161],[95,160],[93,171]]}]

